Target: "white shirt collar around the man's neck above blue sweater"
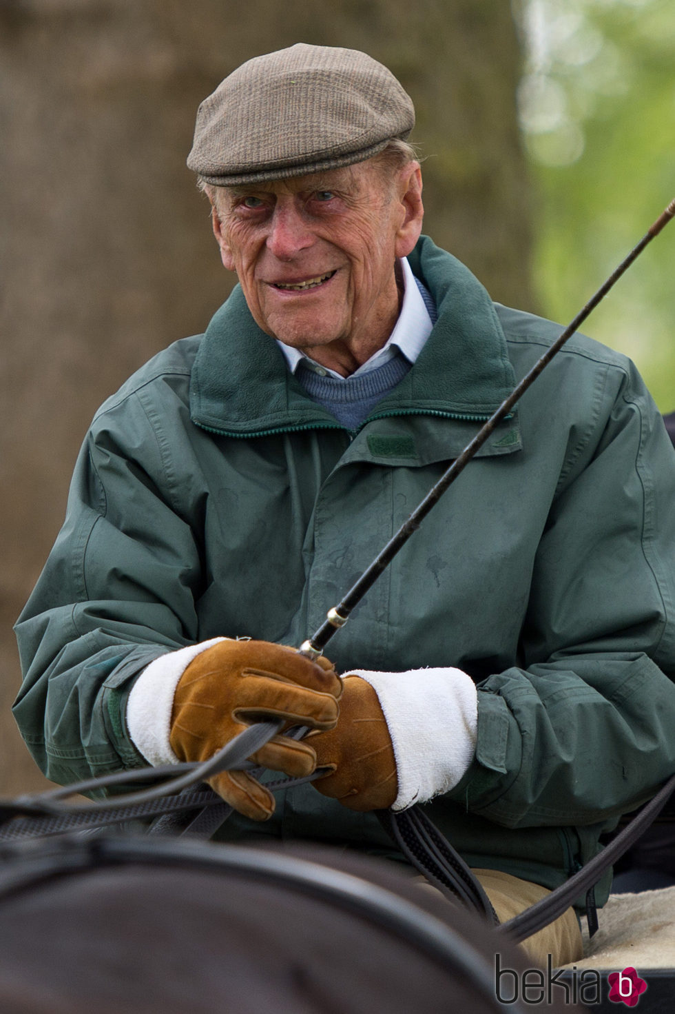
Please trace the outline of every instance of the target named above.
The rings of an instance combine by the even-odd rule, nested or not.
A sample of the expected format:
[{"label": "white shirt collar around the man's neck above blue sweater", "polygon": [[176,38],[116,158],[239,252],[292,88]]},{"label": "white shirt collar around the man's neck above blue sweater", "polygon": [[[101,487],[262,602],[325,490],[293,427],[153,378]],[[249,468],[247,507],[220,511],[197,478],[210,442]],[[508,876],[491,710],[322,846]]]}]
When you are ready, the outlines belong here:
[{"label": "white shirt collar around the man's neck above blue sweater", "polygon": [[[432,323],[432,318],[429,315],[429,310],[425,306],[425,301],[422,298],[422,293],[418,288],[418,284],[415,281],[415,275],[407,263],[407,258],[401,258],[398,262],[402,275],[403,275],[403,303],[400,308],[400,313],[398,314],[398,319],[394,324],[394,329],[389,335],[386,344],[378,349],[370,359],[366,360],[358,370],[351,373],[350,376],[356,377],[360,376],[362,373],[368,373],[370,370],[376,369],[378,366],[383,366],[387,360],[392,359],[396,355],[396,352],[400,352],[407,361],[413,364],[422,349],[424,348],[425,342],[429,338],[434,327]],[[288,364],[288,368],[291,373],[295,373],[298,365],[301,362],[305,362],[307,366],[313,369],[316,373],[321,376],[331,376],[336,377],[339,380],[345,380],[346,377],[341,376],[334,370],[329,370],[325,366],[319,366],[315,363],[313,359],[306,356],[304,352],[300,352],[298,349],[292,349],[289,345],[284,345],[278,339],[275,340],[277,345],[284,353],[284,358]]]}]

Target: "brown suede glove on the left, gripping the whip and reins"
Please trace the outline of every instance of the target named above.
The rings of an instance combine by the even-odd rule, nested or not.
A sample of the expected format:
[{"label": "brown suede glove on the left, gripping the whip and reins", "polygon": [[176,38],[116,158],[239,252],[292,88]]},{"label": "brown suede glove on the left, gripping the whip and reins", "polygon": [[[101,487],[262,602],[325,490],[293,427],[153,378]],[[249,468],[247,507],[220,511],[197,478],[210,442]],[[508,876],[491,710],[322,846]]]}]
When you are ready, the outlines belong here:
[{"label": "brown suede glove on the left, gripping the whip and reins", "polygon": [[[169,742],[180,760],[207,760],[252,722],[282,718],[290,728],[330,729],[338,720],[342,681],[325,658],[312,662],[268,641],[220,641],[195,658],[178,680]],[[316,758],[304,742],[275,736],[251,759],[295,778]],[[242,771],[222,772],[211,787],[253,820],[272,816],[272,793]]]}]

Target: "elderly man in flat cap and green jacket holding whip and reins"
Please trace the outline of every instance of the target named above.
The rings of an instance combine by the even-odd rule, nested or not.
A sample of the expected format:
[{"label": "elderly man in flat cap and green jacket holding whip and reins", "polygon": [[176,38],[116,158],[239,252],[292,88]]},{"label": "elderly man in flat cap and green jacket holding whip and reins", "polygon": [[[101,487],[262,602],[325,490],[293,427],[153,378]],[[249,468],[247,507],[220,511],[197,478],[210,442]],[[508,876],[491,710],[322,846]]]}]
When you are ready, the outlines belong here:
[{"label": "elderly man in flat cap and green jacket holding whip and reins", "polygon": [[[506,918],[674,769],[675,464],[631,364],[573,339],[331,643],[341,677],[297,654],[559,332],[421,238],[413,124],[380,64],[305,45],[202,104],[239,287],[96,415],[15,715],[64,782],[300,723],[255,759],[330,773],[276,806],[218,776],[227,837],[384,855],[372,811],[426,803]],[[575,960],[573,911],[531,951]]]}]

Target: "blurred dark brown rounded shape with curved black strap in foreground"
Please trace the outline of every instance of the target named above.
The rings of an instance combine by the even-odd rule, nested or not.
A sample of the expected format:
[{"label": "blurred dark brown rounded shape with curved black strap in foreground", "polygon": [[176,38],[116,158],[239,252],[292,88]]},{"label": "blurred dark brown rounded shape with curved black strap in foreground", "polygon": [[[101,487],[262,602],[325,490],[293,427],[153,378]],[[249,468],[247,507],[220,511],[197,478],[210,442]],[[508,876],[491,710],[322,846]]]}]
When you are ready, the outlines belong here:
[{"label": "blurred dark brown rounded shape with curved black strap in foreground", "polygon": [[3,1014],[524,1014],[531,963],[384,861],[109,835],[6,858],[0,945]]}]

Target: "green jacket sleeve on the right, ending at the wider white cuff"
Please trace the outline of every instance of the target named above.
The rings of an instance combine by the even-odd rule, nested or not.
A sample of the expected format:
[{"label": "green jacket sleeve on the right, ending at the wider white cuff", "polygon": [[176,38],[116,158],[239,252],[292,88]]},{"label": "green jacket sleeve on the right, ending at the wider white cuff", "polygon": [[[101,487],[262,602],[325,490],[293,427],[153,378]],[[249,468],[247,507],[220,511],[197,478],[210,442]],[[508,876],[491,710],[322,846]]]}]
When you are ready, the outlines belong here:
[{"label": "green jacket sleeve on the right, ending at the wider white cuff", "polygon": [[675,453],[636,373],[560,483],[521,666],[478,686],[451,797],[507,826],[590,824],[675,772]]}]

